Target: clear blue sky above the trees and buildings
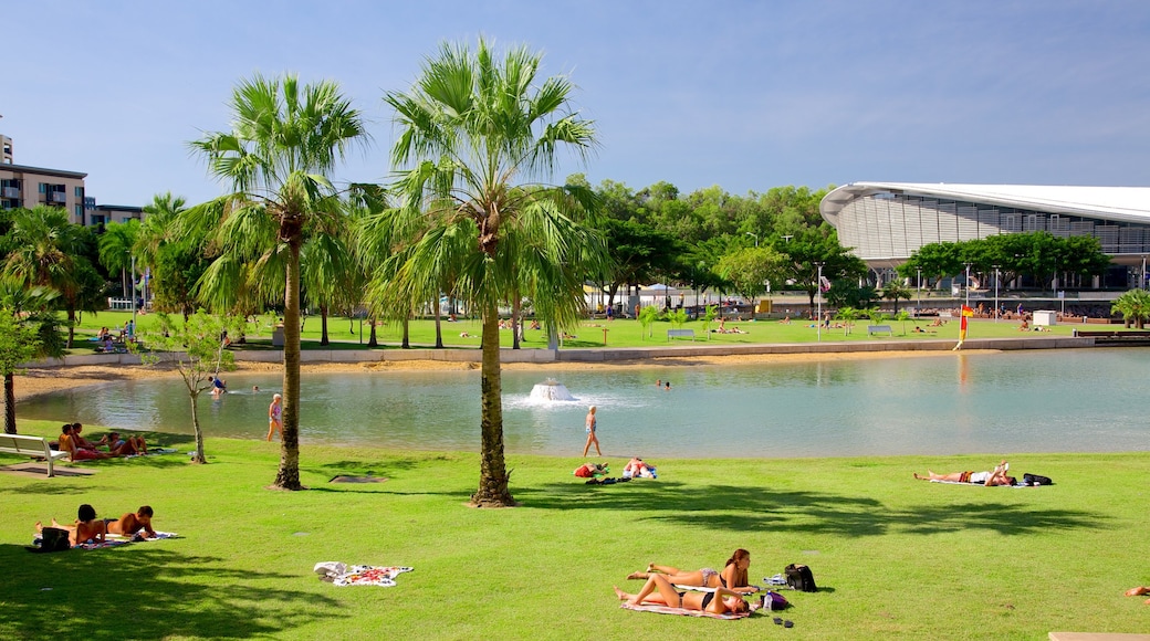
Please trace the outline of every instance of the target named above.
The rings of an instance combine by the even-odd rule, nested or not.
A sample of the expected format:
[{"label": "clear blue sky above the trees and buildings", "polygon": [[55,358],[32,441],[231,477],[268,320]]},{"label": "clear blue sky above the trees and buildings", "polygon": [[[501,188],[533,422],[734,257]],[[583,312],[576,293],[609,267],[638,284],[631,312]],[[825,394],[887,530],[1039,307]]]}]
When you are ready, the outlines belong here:
[{"label": "clear blue sky above the trees and buildings", "polygon": [[336,80],[384,182],[385,91],[444,40],[526,44],[569,75],[584,171],[743,194],[857,180],[1150,186],[1150,2],[118,0],[9,2],[0,133],[102,204],[223,193],[186,141],[253,72]]}]

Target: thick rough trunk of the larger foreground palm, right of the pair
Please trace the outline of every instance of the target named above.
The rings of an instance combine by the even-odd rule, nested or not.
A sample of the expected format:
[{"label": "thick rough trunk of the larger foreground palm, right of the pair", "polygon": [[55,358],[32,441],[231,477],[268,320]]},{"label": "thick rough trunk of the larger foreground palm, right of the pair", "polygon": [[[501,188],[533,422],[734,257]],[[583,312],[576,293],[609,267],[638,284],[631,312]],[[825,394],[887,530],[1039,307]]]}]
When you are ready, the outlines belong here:
[{"label": "thick rough trunk of the larger foreground palm, right of the pair", "polygon": [[509,508],[515,505],[507,489],[507,463],[504,461],[503,441],[503,378],[499,371],[499,310],[489,304],[483,310],[483,366],[480,371],[482,386],[482,416],[480,428],[482,445],[480,451],[480,489],[471,495],[471,504],[478,508]]}]

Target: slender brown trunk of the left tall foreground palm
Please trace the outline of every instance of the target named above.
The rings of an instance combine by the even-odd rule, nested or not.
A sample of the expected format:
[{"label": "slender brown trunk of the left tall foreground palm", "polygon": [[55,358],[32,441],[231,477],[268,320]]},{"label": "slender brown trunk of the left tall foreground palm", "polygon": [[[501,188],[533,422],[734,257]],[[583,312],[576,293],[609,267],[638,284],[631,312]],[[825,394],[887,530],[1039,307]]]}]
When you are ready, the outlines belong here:
[{"label": "slender brown trunk of the left tall foreground palm", "polygon": [[304,489],[299,482],[299,244],[288,242],[288,285],[284,292],[284,406],[279,471],[275,487]]}]

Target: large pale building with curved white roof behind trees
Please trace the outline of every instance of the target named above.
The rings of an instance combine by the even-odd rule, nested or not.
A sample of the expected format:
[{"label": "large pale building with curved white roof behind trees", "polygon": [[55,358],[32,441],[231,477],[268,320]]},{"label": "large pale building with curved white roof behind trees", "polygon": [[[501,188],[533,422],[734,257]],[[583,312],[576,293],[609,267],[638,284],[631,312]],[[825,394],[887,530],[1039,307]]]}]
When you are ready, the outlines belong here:
[{"label": "large pale building with curved white roof behind trees", "polygon": [[[851,183],[828,193],[820,213],[882,280],[923,245],[1003,233],[1097,238],[1133,286],[1150,255],[1150,187]],[[1126,286],[1114,280],[1105,285]]]}]

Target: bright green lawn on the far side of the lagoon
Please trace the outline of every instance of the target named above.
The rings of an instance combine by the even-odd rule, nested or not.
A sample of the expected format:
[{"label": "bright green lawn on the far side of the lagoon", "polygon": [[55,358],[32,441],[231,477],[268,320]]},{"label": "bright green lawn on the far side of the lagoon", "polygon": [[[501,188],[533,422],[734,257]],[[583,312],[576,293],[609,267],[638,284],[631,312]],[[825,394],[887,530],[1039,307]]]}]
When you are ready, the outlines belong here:
[{"label": "bright green lawn on the far side of the lagoon", "polygon": [[[130,311],[101,311],[100,314],[85,314],[77,327],[77,340],[76,348],[72,350],[74,354],[90,354],[95,347],[95,342],[87,341],[87,338],[94,337],[100,327],[122,327],[124,323],[131,319]],[[148,331],[155,320],[154,315],[140,315],[137,316],[137,324],[141,332]],[[266,317],[261,317],[255,324],[250,324],[250,333],[247,335],[247,345],[239,346],[237,349],[268,349],[271,347],[271,326],[267,322]],[[918,320],[884,320],[883,324],[890,325],[894,331],[894,335],[880,334],[880,335],[867,335],[867,325],[869,320],[861,319],[856,320],[850,332],[843,327],[833,327],[830,330],[822,330],[820,332],[811,325],[810,322],[791,320],[788,324],[783,324],[777,319],[772,320],[757,320],[757,322],[731,322],[727,323],[726,327],[728,330],[739,330],[744,333],[716,333],[708,332],[704,329],[704,323],[702,320],[695,320],[683,325],[683,329],[695,330],[696,341],[692,342],[689,339],[674,339],[673,341],[667,340],[667,330],[675,329],[668,322],[657,322],[644,331],[643,325],[638,320],[585,320],[577,330],[574,332],[572,339],[567,339],[562,342],[562,347],[572,349],[586,349],[586,348],[601,348],[606,347],[667,347],[673,346],[690,346],[690,345],[757,345],[757,343],[797,343],[797,342],[815,342],[816,340],[822,340],[825,342],[858,342],[858,341],[882,341],[882,340],[936,340],[936,339],[948,339],[958,340],[958,329],[959,322],[957,318],[950,319],[945,325],[940,327],[931,327],[930,323],[933,318],[922,318]],[[914,332],[914,327],[919,326],[922,333]],[[1049,335],[1071,335],[1074,326],[1063,324],[1055,325],[1051,327],[1050,332],[1020,332],[1018,330],[1018,322],[1012,320],[988,320],[988,319],[976,319],[971,322],[971,327],[967,338],[1019,338],[1019,337],[1049,337]],[[482,333],[482,327],[478,320],[459,320],[455,323],[442,323],[443,327],[443,342],[445,347],[451,348],[475,348],[480,347],[480,335]],[[711,330],[719,327],[718,322],[712,322],[710,325]],[[1098,329],[1091,325],[1092,329]],[[330,347],[321,347],[321,320],[319,317],[312,316],[307,317],[304,322],[304,332],[301,335],[302,348],[304,349],[362,349],[360,340],[360,323],[354,320],[348,323],[347,318],[329,318],[328,319],[328,337],[332,341]],[[1109,327],[1107,327],[1109,329]],[[377,340],[382,343],[382,348],[394,349],[400,345],[402,340],[401,327],[392,324],[383,324],[376,329]],[[607,330],[604,334],[604,330]],[[461,334],[468,334],[463,337]],[[369,338],[369,329],[365,325],[362,327],[362,341],[367,342]],[[431,347],[435,345],[435,322],[434,320],[413,320],[409,326],[409,341],[412,347]],[[604,339],[606,338],[606,342]],[[512,333],[511,330],[505,330],[501,332],[501,343],[504,347],[512,346]],[[537,349],[545,348],[547,346],[547,337],[543,331],[539,330],[526,330],[524,339],[522,341],[523,349]]]}]

